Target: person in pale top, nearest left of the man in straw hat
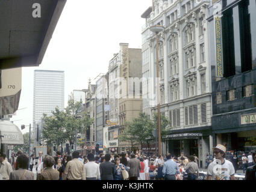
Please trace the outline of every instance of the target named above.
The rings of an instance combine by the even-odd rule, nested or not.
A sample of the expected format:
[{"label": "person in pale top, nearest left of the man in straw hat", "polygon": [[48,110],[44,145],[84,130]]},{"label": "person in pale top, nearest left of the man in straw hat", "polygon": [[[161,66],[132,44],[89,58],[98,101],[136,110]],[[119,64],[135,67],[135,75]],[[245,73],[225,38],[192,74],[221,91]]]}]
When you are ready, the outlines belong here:
[{"label": "person in pale top, nearest left of the man in straw hat", "polygon": [[188,180],[197,180],[199,176],[198,164],[195,163],[195,156],[189,156],[189,163],[184,166],[184,170],[187,170]]}]

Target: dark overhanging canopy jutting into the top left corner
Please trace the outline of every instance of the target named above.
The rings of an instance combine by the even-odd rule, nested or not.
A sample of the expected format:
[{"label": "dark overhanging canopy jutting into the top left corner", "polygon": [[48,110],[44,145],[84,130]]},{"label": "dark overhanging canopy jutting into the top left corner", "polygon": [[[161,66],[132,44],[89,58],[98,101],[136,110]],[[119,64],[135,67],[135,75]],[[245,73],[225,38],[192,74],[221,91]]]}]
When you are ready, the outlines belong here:
[{"label": "dark overhanging canopy jutting into the top left corner", "polygon": [[[40,4],[41,17],[33,17]],[[0,1],[0,70],[39,66],[66,0]]]}]

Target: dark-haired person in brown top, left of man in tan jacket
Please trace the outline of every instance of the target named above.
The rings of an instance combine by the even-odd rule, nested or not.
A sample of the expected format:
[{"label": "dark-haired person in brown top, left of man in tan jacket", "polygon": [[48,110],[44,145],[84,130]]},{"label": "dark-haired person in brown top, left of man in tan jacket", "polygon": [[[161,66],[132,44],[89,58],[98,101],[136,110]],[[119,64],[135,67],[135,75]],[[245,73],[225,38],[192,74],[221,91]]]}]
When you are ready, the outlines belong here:
[{"label": "dark-haired person in brown top, left of man in tan jacket", "polygon": [[59,180],[60,173],[52,169],[54,166],[55,160],[51,156],[45,156],[43,158],[43,170],[37,176],[37,180]]}]

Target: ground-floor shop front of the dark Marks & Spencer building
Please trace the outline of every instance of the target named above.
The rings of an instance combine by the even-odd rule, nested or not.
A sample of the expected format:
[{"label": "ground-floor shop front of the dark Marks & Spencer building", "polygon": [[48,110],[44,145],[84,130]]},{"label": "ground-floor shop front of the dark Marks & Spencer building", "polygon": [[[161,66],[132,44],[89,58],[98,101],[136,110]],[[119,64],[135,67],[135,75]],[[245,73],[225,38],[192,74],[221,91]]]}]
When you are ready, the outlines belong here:
[{"label": "ground-floor shop front of the dark Marks & Spencer building", "polygon": [[216,144],[228,151],[248,154],[256,150],[256,109],[213,116]]}]

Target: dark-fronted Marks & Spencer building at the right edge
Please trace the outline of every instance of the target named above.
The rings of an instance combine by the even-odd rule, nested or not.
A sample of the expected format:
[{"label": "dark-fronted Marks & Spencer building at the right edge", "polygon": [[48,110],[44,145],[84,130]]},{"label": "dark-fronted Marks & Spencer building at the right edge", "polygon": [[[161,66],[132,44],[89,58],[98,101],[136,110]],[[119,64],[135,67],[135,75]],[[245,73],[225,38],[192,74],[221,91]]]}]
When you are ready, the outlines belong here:
[{"label": "dark-fronted Marks & Spencer building at the right edge", "polygon": [[248,154],[256,149],[256,4],[254,0],[213,3],[207,18],[213,145]]}]

